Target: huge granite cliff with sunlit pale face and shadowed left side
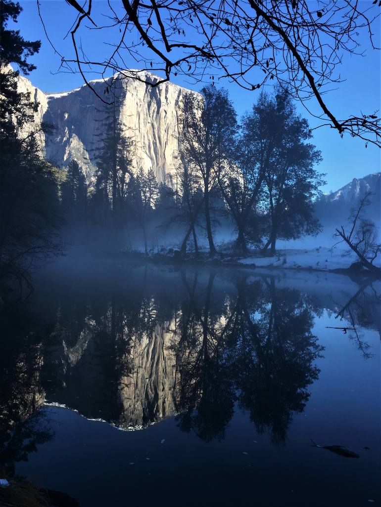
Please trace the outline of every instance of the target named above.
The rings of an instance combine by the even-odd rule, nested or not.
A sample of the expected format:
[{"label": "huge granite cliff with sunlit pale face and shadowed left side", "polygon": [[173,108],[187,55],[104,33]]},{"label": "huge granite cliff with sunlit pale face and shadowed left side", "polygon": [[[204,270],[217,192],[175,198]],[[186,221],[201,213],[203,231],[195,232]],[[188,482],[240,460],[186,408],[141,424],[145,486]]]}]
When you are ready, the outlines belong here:
[{"label": "huge granite cliff with sunlit pale face and shadowed left side", "polygon": [[[158,79],[149,73],[139,76],[152,83]],[[173,184],[179,148],[179,108],[188,90],[172,83],[152,87],[136,79],[116,79],[111,83],[110,78],[90,83],[107,101],[111,102],[115,94],[123,132],[135,143],[135,168],[143,167],[145,171],[152,168],[159,183]],[[44,121],[53,126],[53,132],[43,137],[46,157],[59,167],[76,160],[91,182],[101,143],[102,120],[106,110],[112,112],[113,105],[104,104],[87,86],[44,94],[22,77],[19,86],[40,103],[35,124]]]}]

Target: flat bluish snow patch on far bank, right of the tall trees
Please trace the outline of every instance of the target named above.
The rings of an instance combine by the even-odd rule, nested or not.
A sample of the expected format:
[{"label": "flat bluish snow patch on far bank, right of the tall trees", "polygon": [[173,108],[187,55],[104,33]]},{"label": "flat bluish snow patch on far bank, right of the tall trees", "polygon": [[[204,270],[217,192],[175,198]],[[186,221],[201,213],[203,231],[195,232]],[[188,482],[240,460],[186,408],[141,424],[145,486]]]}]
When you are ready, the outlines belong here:
[{"label": "flat bluish snow patch on far bank, right of the tall trees", "polygon": [[274,257],[250,256],[240,259],[238,264],[257,267],[281,267],[283,269],[346,269],[356,262],[355,255],[344,256],[343,251],[329,248],[315,248],[312,250],[278,250]]}]

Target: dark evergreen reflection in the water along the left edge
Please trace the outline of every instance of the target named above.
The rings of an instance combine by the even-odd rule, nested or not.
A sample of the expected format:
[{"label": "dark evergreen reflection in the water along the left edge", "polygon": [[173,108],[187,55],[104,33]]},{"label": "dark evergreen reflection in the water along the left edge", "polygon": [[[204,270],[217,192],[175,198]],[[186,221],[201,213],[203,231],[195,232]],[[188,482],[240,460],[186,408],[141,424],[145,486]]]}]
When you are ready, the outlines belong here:
[{"label": "dark evergreen reflection in the water along the left edge", "polygon": [[45,338],[51,326],[28,308],[6,305],[0,314],[0,473],[14,475],[15,463],[26,461],[37,445],[54,436],[40,410],[45,392],[41,368]]}]

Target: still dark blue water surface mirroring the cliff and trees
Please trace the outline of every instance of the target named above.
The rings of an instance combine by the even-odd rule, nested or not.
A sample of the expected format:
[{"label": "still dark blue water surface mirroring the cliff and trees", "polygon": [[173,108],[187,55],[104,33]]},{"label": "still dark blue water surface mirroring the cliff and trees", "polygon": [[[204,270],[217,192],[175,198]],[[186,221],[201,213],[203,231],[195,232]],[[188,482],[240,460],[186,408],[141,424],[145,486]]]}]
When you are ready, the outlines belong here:
[{"label": "still dark blue water surface mirroring the cliff and trees", "polygon": [[379,304],[335,274],[51,266],[1,320],[0,467],[82,507],[379,505]]}]

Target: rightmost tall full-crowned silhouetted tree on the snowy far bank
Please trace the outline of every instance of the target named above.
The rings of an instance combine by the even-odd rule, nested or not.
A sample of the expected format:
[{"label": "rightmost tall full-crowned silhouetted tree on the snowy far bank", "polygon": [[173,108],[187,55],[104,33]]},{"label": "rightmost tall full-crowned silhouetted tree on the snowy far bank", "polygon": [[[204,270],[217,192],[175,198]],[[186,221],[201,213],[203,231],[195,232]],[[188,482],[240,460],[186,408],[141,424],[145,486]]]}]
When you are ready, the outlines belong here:
[{"label": "rightmost tall full-crowned silhouetted tree on the snowy far bank", "polygon": [[287,90],[279,89],[274,97],[261,94],[255,108],[268,147],[261,208],[269,219],[269,238],[263,250],[271,245],[274,255],[277,238],[295,239],[320,230],[312,198],[323,183],[314,168],[321,156],[306,142],[311,137],[308,123],[296,113]]}]

